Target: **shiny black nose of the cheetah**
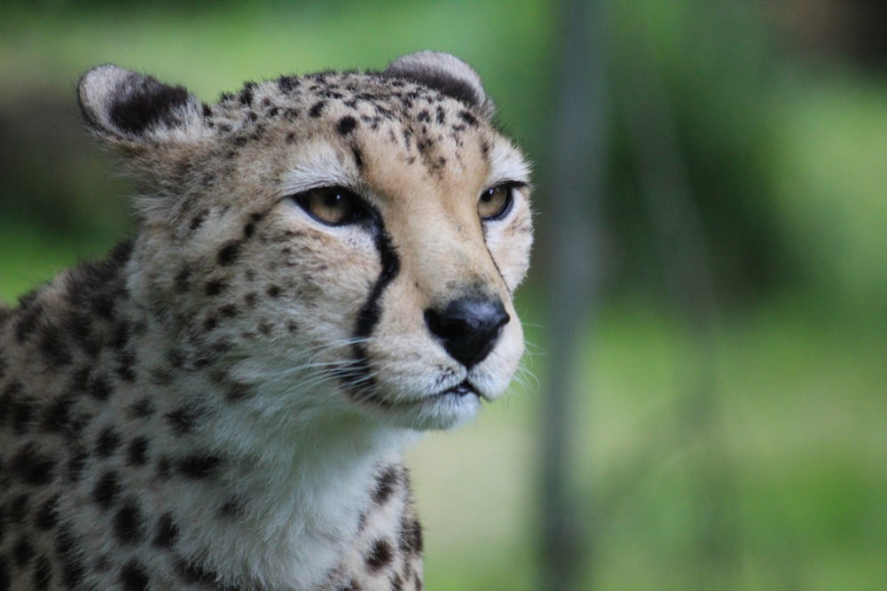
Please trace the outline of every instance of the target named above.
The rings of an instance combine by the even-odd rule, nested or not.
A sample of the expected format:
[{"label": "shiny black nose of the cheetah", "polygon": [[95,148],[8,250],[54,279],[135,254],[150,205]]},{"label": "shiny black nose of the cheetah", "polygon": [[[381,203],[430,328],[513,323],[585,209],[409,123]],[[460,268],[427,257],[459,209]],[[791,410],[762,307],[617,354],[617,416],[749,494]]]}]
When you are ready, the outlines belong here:
[{"label": "shiny black nose of the cheetah", "polygon": [[453,359],[471,369],[490,354],[510,320],[498,299],[454,299],[447,307],[425,310],[425,323]]}]

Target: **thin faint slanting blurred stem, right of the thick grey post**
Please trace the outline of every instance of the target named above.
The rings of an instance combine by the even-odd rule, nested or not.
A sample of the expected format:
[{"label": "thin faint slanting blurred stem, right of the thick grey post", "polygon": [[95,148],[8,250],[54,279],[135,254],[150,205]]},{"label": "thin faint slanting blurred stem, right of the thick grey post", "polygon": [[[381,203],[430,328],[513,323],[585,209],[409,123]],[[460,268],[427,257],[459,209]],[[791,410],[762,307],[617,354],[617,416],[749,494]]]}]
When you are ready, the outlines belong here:
[{"label": "thin faint slanting blurred stem, right of the thick grey post", "polygon": [[[634,67],[623,73],[619,104],[654,229],[651,240],[663,265],[666,299],[692,346],[679,375],[682,392],[674,439],[658,441],[656,447],[687,449],[703,443],[704,453],[690,475],[695,523],[688,529],[695,531],[698,562],[705,567],[696,572],[696,586],[729,589],[737,587],[740,543],[736,485],[719,407],[718,298],[710,241],[687,175],[669,96],[644,55],[638,48]],[[658,453],[657,449],[653,455]]]}]

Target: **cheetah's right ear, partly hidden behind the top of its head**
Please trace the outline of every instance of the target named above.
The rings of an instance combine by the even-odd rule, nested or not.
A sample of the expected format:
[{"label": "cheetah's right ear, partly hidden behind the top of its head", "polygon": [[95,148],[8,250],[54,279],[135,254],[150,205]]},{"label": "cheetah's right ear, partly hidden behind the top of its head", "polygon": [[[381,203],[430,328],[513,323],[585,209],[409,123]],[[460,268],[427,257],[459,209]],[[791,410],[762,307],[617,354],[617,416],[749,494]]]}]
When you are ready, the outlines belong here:
[{"label": "cheetah's right ear, partly hidden behind the top of its head", "polygon": [[474,107],[486,119],[496,113],[474,68],[449,53],[419,51],[391,62],[385,74],[419,82]]}]

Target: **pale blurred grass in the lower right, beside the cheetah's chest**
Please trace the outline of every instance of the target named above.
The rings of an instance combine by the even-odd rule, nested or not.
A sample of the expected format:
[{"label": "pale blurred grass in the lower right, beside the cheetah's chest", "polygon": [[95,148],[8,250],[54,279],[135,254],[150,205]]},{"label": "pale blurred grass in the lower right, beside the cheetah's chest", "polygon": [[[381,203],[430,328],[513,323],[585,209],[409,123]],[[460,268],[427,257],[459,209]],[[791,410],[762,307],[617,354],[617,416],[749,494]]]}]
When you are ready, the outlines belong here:
[{"label": "pale blurred grass in the lower right, beside the cheetah's chest", "polygon": [[[718,330],[724,457],[676,419],[693,338],[655,307],[608,307],[585,343],[575,416],[575,518],[593,528],[596,589],[875,589],[887,584],[883,332],[823,321],[799,298]],[[530,337],[532,338],[532,336]],[[537,368],[544,373],[544,362]],[[544,393],[541,394],[544,396]],[[462,432],[412,454],[428,528],[428,588],[533,589],[538,405],[515,388]],[[719,501],[735,563],[706,556],[700,475],[726,463]],[[705,516],[702,516],[704,519]],[[592,582],[594,587],[592,587]]]}]

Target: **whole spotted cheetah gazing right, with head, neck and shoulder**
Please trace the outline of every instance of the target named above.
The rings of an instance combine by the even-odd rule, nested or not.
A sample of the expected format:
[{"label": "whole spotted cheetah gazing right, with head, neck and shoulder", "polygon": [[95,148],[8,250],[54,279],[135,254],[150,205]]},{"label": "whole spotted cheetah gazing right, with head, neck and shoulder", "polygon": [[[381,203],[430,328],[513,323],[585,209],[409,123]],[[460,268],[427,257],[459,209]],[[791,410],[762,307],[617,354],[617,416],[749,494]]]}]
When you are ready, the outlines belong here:
[{"label": "whole spotted cheetah gazing right, with head, neck and shoulder", "polygon": [[524,348],[530,168],[478,74],[77,92],[137,230],[0,309],[0,589],[421,589],[404,447]]}]

